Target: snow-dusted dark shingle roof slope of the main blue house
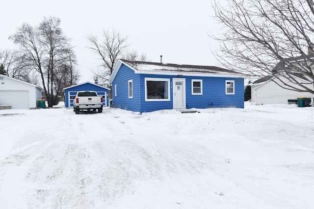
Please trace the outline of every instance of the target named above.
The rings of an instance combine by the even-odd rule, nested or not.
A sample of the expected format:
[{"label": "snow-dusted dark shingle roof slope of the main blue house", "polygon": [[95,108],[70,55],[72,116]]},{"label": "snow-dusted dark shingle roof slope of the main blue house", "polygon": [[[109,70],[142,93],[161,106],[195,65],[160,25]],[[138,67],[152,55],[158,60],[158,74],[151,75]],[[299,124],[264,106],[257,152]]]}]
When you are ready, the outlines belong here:
[{"label": "snow-dusted dark shingle roof slope of the main blue house", "polygon": [[143,71],[165,71],[165,72],[197,72],[211,74],[241,74],[214,66],[178,65],[169,63],[153,63],[141,61],[121,60],[135,70]]}]

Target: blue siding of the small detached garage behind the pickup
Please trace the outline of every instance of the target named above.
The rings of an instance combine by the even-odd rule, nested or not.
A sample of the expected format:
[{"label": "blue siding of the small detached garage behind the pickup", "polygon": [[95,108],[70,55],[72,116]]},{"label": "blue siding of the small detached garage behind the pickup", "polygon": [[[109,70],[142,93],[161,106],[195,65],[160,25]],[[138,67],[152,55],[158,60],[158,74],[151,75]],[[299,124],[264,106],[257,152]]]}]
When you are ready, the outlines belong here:
[{"label": "blue siding of the small detached garage behind the pickup", "polygon": [[[82,85],[74,86],[72,88],[66,89],[64,92],[64,105],[65,107],[72,107],[73,105],[69,104],[69,92],[71,95],[76,95],[77,92],[79,91],[95,91],[95,92],[105,92],[108,94],[108,90],[99,86],[96,86],[92,83],[85,83]],[[100,93],[100,95],[104,95],[104,93]],[[108,100],[108,97],[107,97]],[[70,100],[70,103],[73,102],[73,99]],[[108,104],[104,104],[108,106]]]}]

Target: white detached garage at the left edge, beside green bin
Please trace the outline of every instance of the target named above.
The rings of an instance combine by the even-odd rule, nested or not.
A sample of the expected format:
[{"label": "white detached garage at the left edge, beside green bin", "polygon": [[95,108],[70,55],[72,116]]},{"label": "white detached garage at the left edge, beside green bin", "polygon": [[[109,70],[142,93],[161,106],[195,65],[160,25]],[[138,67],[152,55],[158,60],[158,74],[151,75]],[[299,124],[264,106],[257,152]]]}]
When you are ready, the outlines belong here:
[{"label": "white detached garage at the left edge, beside green bin", "polygon": [[42,90],[34,84],[0,75],[0,105],[9,105],[12,109],[36,108]]}]

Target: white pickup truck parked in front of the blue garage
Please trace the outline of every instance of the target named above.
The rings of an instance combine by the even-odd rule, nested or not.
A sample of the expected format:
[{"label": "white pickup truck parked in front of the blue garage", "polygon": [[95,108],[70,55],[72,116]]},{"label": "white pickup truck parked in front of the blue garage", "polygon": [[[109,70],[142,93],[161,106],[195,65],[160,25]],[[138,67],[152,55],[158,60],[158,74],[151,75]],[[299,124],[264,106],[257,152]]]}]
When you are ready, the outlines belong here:
[{"label": "white pickup truck parked in front of the blue garage", "polygon": [[98,96],[94,91],[80,91],[77,93],[73,103],[73,111],[79,114],[82,110],[98,110],[98,113],[103,112],[103,97]]}]

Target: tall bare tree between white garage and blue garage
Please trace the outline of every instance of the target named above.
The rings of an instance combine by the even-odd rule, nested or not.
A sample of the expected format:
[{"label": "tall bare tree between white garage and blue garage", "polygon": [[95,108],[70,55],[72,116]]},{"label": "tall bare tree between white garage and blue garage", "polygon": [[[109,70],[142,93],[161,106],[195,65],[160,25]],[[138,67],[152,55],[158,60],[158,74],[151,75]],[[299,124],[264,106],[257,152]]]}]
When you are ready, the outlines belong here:
[{"label": "tall bare tree between white garage and blue garage", "polygon": [[[54,79],[57,76],[57,69],[68,62],[71,48],[69,39],[60,28],[60,23],[61,21],[55,17],[44,18],[37,27],[24,23],[9,37],[20,46],[29,68],[39,72],[49,107],[52,107],[56,94]],[[75,62],[74,59],[71,60],[72,63]],[[73,77],[71,82],[73,83]]]}]

